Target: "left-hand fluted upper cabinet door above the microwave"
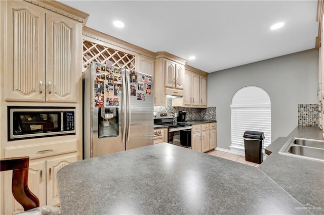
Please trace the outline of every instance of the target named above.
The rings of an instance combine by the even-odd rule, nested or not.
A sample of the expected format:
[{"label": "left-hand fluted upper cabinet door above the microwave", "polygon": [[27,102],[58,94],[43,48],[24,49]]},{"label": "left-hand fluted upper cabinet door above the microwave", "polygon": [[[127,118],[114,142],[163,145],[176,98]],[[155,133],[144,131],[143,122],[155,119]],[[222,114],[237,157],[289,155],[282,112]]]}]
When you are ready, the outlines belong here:
[{"label": "left-hand fluted upper cabinet door above the microwave", "polygon": [[6,100],[45,101],[45,13],[7,1]]}]

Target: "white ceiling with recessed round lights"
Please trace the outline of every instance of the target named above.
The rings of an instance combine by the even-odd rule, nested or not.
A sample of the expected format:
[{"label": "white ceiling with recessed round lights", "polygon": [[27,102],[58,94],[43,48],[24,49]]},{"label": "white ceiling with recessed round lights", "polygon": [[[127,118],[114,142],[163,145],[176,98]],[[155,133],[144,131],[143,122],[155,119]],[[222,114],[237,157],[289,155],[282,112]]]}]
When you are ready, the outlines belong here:
[{"label": "white ceiling with recessed round lights", "polygon": [[[314,48],[318,34],[317,0],[59,2],[90,14],[87,27],[206,72]],[[284,27],[270,30],[277,22]]]}]

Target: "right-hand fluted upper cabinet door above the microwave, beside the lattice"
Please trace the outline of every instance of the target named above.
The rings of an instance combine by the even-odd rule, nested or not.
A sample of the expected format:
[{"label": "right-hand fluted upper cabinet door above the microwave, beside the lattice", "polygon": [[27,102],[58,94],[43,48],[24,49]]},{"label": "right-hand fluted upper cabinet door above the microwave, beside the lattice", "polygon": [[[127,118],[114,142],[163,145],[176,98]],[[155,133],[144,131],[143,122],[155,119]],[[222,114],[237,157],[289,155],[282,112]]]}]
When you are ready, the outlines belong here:
[{"label": "right-hand fluted upper cabinet door above the microwave, beside the lattice", "polygon": [[[77,83],[82,70],[76,68],[81,58],[80,23],[63,16],[48,13],[47,21],[47,98],[53,102],[76,102]],[[82,44],[81,44],[82,45]]]}]

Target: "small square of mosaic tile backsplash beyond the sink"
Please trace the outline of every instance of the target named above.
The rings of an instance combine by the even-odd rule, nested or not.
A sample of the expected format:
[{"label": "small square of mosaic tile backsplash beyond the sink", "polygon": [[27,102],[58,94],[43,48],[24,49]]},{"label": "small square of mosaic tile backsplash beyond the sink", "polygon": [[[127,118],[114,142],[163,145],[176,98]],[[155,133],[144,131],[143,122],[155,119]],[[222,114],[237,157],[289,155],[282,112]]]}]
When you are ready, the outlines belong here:
[{"label": "small square of mosaic tile backsplash beyond the sink", "polygon": [[298,104],[298,125],[318,127],[319,105]]}]

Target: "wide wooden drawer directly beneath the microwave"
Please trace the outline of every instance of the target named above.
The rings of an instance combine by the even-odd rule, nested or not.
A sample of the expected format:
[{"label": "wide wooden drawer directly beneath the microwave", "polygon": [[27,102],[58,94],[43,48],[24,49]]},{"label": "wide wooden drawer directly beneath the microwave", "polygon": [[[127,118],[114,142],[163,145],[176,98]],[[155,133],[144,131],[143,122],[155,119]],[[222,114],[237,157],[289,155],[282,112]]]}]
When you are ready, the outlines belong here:
[{"label": "wide wooden drawer directly beneath the microwave", "polygon": [[69,140],[66,142],[56,142],[43,145],[28,145],[7,147],[5,149],[5,157],[29,156],[30,159],[47,157],[56,154],[74,152],[77,150],[77,140]]}]

